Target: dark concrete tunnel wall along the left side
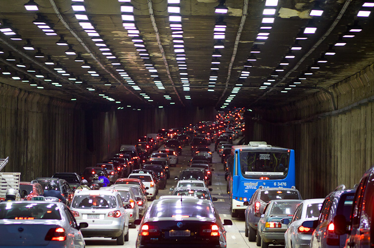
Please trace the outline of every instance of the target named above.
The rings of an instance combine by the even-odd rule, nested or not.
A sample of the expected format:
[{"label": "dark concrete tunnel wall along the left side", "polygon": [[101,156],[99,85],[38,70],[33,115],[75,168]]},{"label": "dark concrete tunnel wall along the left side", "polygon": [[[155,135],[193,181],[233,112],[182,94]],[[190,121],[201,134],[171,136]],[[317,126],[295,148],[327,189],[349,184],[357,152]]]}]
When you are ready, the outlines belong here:
[{"label": "dark concrete tunnel wall along the left side", "polygon": [[22,181],[79,173],[142,135],[216,115],[213,107],[100,109],[0,83],[0,158],[9,156],[1,172],[20,172]]}]

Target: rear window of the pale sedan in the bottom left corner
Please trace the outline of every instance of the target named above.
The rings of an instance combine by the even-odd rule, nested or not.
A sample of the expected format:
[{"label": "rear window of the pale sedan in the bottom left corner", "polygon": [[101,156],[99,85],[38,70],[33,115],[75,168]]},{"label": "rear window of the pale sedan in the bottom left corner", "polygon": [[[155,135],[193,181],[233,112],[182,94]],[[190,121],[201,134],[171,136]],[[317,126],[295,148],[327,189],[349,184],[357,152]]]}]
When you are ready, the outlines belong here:
[{"label": "rear window of the pale sedan in the bottom left corner", "polygon": [[61,220],[59,207],[54,203],[0,204],[0,220]]}]

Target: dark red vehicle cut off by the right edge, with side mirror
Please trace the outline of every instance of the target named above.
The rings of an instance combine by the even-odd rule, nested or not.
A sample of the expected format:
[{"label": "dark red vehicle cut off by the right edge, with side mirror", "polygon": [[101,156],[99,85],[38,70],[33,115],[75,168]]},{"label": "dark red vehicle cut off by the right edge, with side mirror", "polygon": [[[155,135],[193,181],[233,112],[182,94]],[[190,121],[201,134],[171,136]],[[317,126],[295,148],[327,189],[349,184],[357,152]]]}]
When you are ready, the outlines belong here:
[{"label": "dark red vehicle cut off by the right edge, with side mirror", "polygon": [[345,216],[342,215],[336,215],[334,218],[335,233],[347,234],[345,244],[347,248],[374,246],[373,199],[374,167],[364,174],[357,187],[350,220],[347,222]]}]

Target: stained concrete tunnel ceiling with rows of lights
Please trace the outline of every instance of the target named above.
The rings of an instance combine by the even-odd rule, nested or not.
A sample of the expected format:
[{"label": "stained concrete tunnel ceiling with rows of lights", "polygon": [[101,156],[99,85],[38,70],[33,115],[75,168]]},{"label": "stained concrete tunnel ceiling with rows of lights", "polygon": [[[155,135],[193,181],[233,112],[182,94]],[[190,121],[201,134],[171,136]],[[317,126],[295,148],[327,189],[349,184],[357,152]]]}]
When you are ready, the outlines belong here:
[{"label": "stained concrete tunnel ceiling with rows of lights", "polygon": [[[374,13],[357,16],[365,1],[279,0],[265,6],[270,1],[35,0],[35,11],[25,9],[27,2],[0,2],[0,82],[83,104],[271,108],[327,88],[374,61]],[[228,8],[226,14],[215,13],[219,4]],[[131,6],[133,12],[122,12]],[[321,16],[310,15],[316,6]],[[178,7],[180,15],[169,12]],[[264,15],[264,9],[275,14]],[[273,23],[263,23],[272,17]],[[220,29],[214,31],[215,25]],[[315,33],[304,34],[310,25]],[[356,26],[362,31],[349,32]],[[224,37],[215,39],[215,32]],[[334,46],[339,38],[345,46]],[[60,39],[76,54],[67,55],[69,46],[57,45]],[[34,50],[25,50],[28,42]],[[214,49],[217,42],[224,48]],[[295,42],[301,50],[291,50]],[[336,54],[324,55],[330,50]],[[295,58],[285,61],[290,53]],[[248,61],[251,56],[256,61]]]}]

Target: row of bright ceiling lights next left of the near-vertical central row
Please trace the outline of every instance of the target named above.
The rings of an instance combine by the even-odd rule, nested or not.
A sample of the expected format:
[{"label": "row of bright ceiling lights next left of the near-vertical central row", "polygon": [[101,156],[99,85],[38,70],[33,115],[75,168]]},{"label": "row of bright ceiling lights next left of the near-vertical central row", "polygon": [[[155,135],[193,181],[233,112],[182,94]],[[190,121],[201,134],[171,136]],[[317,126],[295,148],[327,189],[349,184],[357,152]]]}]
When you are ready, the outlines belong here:
[{"label": "row of bright ceiling lights next left of the near-vertical central row", "polygon": [[[151,73],[153,82],[158,89],[165,89],[161,79],[159,78],[158,71],[152,62],[149,52],[145,47],[144,40],[140,36],[140,31],[136,27],[135,18],[134,18],[134,6],[131,4],[131,0],[119,0],[121,3],[121,16],[122,16],[122,25],[127,30],[127,35],[132,37],[132,42],[136,51],[139,52],[140,59],[143,60],[145,68]],[[142,96],[150,101],[149,96],[145,93],[142,93]]]}]

